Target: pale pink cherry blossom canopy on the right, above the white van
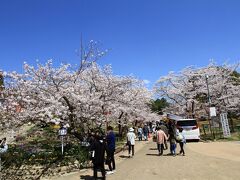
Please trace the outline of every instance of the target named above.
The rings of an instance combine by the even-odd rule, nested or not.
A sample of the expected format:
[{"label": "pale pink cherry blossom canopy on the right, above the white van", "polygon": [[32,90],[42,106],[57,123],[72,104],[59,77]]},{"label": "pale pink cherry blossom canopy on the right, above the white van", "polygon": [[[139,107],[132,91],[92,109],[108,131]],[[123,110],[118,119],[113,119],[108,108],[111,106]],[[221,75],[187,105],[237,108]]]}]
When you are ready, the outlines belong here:
[{"label": "pale pink cherry blossom canopy on the right, above the white van", "polygon": [[159,79],[155,92],[166,97],[178,114],[199,117],[208,111],[208,83],[210,104],[218,113],[239,113],[239,77],[233,76],[238,67],[239,64],[218,66],[210,63],[203,68],[187,67],[180,73],[170,72]]}]

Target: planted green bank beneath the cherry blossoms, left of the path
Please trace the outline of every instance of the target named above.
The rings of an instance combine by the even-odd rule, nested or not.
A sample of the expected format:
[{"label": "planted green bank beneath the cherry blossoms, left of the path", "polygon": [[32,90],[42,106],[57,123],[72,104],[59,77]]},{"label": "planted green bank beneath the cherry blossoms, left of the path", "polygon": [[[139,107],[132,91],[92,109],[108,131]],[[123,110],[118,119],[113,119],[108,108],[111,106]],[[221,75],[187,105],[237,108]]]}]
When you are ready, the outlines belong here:
[{"label": "planted green bank beneath the cherry blossoms, left of the path", "polygon": [[88,150],[81,147],[74,137],[65,139],[64,155],[61,154],[61,140],[56,129],[50,126],[32,127],[25,136],[11,145],[7,153],[2,155],[2,169],[21,167],[24,165],[68,165],[76,161],[81,164],[88,160]]}]

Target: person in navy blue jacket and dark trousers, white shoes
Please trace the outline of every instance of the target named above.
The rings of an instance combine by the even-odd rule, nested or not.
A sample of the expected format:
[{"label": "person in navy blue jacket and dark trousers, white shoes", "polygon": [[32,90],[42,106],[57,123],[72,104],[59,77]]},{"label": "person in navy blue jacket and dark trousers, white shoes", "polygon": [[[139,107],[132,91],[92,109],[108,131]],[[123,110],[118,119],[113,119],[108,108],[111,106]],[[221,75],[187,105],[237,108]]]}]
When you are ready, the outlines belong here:
[{"label": "person in navy blue jacket and dark trousers, white shoes", "polygon": [[109,172],[107,174],[112,174],[115,172],[116,166],[115,166],[115,159],[114,159],[114,152],[115,152],[115,134],[113,133],[112,126],[107,127],[107,136],[106,136],[106,142],[107,142],[107,164],[109,167]]}]

